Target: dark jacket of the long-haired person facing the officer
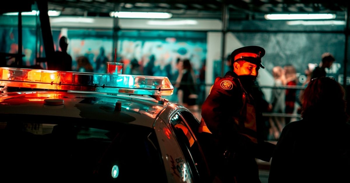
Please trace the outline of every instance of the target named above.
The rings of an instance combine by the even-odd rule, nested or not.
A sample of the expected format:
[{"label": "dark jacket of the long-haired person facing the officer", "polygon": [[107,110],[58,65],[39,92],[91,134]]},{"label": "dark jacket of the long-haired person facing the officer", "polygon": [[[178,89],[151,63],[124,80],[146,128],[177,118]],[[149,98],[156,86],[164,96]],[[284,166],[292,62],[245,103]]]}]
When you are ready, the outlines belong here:
[{"label": "dark jacket of the long-haired person facing the officer", "polygon": [[330,120],[304,119],[283,128],[269,183],[350,182],[350,125]]}]

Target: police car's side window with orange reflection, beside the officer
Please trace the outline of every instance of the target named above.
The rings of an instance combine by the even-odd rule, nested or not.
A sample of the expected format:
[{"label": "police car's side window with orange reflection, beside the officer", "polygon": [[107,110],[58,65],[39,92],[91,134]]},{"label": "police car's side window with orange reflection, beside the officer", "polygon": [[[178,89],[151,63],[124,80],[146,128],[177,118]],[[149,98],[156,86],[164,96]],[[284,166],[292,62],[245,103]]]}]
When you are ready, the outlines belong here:
[{"label": "police car's side window with orange reflection, beside the officer", "polygon": [[189,162],[190,173],[194,181],[205,182],[209,172],[202,149],[196,138],[199,122],[191,113],[181,111],[170,119],[170,124],[179,141],[184,156]]}]

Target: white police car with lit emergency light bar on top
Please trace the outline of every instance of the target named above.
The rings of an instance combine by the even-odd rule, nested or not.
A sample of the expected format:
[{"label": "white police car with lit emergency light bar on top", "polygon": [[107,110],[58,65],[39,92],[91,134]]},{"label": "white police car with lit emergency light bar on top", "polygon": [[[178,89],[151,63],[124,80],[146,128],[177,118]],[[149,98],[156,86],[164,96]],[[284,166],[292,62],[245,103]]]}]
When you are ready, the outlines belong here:
[{"label": "white police car with lit emergency light bar on top", "polygon": [[2,67],[0,86],[1,182],[208,180],[199,122],[161,97],[167,77]]}]

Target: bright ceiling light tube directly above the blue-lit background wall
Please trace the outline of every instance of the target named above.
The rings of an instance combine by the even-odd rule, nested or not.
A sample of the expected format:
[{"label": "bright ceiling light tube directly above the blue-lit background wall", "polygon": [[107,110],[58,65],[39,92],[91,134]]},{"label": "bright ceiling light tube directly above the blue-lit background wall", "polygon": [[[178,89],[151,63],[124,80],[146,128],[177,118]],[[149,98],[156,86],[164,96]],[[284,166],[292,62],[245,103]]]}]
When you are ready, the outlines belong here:
[{"label": "bright ceiling light tube directly above the blue-lit background wall", "polygon": [[111,17],[119,18],[171,18],[171,13],[154,13],[154,12],[111,12]]}]

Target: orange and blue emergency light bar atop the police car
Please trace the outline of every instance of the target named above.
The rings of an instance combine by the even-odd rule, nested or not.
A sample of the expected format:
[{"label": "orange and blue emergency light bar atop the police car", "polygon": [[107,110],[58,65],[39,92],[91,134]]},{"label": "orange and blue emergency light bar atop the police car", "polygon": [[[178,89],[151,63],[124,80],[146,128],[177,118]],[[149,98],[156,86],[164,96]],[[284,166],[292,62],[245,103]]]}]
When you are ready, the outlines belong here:
[{"label": "orange and blue emergency light bar atop the police car", "polygon": [[9,67],[0,67],[0,86],[156,96],[172,95],[174,90],[167,77],[110,75]]}]

